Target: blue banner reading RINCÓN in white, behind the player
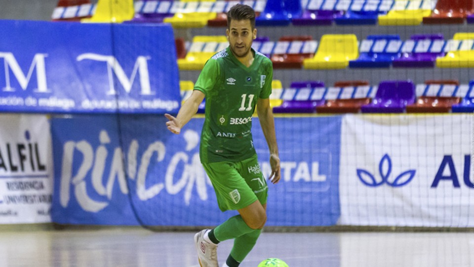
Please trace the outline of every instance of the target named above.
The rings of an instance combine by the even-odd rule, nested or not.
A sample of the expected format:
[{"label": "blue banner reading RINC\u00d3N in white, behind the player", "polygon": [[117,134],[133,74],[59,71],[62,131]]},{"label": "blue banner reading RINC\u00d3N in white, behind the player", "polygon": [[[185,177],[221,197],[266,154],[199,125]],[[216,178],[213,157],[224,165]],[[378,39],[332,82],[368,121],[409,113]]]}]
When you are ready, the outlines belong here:
[{"label": "blue banner reading RINC\u00d3N in white, behind the player", "polygon": [[[203,121],[192,119],[175,135],[163,116],[52,118],[53,222],[193,226],[225,221],[233,212],[220,212],[199,161]],[[340,124],[340,117],[276,118],[282,178],[268,185],[267,225],[337,222]],[[253,137],[260,166],[248,171],[268,177],[269,152],[257,118]]]}]

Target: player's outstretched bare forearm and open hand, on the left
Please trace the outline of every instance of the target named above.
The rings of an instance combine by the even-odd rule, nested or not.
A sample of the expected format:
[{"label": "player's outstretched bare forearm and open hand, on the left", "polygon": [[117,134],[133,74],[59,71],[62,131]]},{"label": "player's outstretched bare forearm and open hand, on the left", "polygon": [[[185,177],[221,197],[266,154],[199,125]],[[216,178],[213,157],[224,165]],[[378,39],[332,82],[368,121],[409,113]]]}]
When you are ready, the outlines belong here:
[{"label": "player's outstretched bare forearm and open hand, on the left", "polygon": [[183,128],[183,126],[185,126],[197,113],[199,104],[204,99],[204,96],[205,95],[203,92],[194,90],[191,96],[181,106],[176,117],[173,117],[170,114],[164,114],[164,116],[168,119],[166,122],[166,127],[171,133],[181,133],[181,128]]}]

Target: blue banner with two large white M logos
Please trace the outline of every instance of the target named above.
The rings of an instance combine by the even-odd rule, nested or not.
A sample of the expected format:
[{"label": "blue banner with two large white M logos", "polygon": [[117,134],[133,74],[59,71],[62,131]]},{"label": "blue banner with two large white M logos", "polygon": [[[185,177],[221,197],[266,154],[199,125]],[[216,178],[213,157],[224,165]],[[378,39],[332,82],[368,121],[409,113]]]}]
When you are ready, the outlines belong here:
[{"label": "blue banner with two large white M logos", "polygon": [[0,111],[164,113],[180,103],[170,25],[0,20]]}]

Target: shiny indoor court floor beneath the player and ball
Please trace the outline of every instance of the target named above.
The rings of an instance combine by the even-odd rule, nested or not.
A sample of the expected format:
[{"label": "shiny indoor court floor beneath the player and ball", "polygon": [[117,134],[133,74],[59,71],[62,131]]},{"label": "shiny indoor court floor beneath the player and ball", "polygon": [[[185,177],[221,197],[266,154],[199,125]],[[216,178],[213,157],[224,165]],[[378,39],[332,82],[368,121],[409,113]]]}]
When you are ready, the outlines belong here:
[{"label": "shiny indoor court floor beneath the player and ball", "polygon": [[[138,227],[0,232],[0,267],[198,267],[194,232]],[[218,249],[222,265],[232,241]],[[472,232],[263,232],[241,267],[474,266]]]}]

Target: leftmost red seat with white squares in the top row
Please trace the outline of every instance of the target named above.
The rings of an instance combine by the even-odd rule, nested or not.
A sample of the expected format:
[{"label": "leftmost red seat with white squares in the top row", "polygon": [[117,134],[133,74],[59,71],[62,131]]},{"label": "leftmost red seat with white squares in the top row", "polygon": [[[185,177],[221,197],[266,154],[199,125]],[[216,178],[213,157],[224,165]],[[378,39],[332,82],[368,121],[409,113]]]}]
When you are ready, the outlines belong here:
[{"label": "leftmost red seat with white squares in the top row", "polygon": [[59,0],[54,8],[53,21],[80,21],[90,18],[94,10],[90,0]]}]

